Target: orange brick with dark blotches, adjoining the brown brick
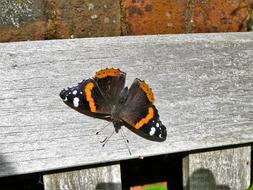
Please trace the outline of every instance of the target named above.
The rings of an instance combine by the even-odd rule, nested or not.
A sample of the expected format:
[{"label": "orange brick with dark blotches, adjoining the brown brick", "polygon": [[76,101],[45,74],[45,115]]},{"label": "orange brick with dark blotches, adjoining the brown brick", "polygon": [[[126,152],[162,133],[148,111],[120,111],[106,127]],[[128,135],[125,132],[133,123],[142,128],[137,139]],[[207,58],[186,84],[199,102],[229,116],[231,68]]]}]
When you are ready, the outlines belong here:
[{"label": "orange brick with dark blotches, adjoining the brown brick", "polygon": [[127,34],[183,33],[187,2],[187,0],[125,0]]}]

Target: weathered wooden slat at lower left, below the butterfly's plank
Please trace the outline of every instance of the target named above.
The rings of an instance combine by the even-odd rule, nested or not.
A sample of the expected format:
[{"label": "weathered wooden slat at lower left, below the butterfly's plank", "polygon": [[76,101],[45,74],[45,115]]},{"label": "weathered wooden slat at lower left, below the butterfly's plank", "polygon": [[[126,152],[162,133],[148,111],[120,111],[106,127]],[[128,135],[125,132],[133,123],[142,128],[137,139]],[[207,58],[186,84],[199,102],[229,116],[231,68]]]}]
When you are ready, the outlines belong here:
[{"label": "weathered wooden slat at lower left, below the butterfly's plank", "polygon": [[120,165],[69,172],[46,174],[43,176],[45,190],[121,190]]}]

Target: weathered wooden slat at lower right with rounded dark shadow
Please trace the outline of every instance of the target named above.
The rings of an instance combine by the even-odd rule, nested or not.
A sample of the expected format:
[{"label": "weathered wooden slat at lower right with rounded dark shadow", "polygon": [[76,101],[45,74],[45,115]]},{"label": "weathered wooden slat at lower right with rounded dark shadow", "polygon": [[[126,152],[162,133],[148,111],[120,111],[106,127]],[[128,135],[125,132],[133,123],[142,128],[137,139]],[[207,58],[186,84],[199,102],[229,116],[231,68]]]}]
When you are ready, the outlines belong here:
[{"label": "weathered wooden slat at lower right with rounded dark shadow", "polygon": [[247,189],[250,169],[250,146],[189,154],[183,159],[184,189]]}]

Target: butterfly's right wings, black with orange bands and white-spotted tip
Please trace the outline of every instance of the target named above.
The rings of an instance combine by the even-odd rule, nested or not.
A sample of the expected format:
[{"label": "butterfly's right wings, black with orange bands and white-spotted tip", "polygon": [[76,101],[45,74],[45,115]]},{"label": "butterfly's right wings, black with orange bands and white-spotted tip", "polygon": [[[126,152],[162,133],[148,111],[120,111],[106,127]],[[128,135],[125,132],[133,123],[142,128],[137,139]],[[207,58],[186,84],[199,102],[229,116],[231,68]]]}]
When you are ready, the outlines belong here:
[{"label": "butterfly's right wings, black with orange bands and white-spotted tip", "polygon": [[166,128],[161,123],[153,102],[154,96],[149,86],[144,81],[135,79],[129,89],[121,117],[124,122],[150,139],[163,141],[167,136]]}]

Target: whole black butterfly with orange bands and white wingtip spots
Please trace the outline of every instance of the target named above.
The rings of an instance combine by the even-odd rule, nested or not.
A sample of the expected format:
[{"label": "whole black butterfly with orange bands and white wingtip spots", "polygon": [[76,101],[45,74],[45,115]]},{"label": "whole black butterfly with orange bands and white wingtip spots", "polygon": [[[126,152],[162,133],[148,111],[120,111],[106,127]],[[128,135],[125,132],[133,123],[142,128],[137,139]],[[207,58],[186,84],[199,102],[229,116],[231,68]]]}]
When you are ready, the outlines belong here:
[{"label": "whole black butterfly with orange bands and white wingtip spots", "polygon": [[112,121],[116,132],[125,125],[145,138],[164,141],[166,127],[159,120],[151,88],[135,79],[128,89],[125,79],[126,73],[119,69],[104,69],[94,78],[63,89],[60,97],[83,114]]}]

